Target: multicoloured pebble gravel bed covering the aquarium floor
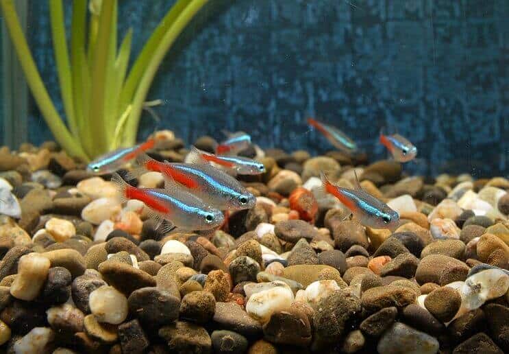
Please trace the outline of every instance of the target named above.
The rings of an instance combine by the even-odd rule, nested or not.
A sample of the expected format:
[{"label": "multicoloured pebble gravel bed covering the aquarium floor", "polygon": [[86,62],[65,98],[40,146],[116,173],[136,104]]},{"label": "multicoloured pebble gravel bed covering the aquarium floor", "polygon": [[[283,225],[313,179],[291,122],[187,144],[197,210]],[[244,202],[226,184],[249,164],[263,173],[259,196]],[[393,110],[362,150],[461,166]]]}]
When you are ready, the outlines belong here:
[{"label": "multicoloured pebble gravel bed covering the aquarium floor", "polygon": [[[149,155],[184,161],[183,141],[158,134]],[[266,172],[238,177],[256,207],[209,235],[162,235],[55,143],[2,147],[0,353],[509,352],[509,180],[243,152],[257,153]],[[353,168],[399,212],[394,233],[319,189],[320,171],[354,188]]]}]

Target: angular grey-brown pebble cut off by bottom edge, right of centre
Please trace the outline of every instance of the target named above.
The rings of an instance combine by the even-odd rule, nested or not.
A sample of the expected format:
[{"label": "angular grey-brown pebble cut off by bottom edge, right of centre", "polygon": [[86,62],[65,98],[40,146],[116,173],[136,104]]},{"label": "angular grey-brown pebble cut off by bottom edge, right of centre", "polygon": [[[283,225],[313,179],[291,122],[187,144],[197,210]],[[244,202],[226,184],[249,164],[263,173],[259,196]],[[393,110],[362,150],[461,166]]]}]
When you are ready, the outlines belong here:
[{"label": "angular grey-brown pebble cut off by bottom edge, right of centre", "polygon": [[380,354],[435,354],[438,348],[436,338],[401,322],[395,322],[377,344],[377,351]]}]

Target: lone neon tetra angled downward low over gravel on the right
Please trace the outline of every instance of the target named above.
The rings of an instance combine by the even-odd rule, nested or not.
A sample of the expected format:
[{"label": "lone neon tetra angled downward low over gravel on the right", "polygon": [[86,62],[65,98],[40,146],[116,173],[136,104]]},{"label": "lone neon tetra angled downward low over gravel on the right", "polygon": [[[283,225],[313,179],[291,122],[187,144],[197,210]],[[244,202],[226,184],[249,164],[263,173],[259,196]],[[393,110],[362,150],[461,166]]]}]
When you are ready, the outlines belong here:
[{"label": "lone neon tetra angled downward low over gravel on the right", "polygon": [[348,189],[334,185],[321,172],[323,189],[326,193],[332,194],[353,213],[360,223],[371,228],[388,228],[395,231],[399,226],[399,214],[390,209],[387,204],[363,191],[360,186],[358,189]]}]

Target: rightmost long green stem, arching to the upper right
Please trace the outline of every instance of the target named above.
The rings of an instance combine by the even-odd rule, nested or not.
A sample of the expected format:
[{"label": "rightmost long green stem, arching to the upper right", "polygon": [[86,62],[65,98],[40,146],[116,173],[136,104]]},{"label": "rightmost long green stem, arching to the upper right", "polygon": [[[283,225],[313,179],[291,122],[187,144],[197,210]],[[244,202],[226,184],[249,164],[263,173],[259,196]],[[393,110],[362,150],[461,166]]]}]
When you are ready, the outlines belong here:
[{"label": "rightmost long green stem, arching to the upper right", "polygon": [[186,27],[189,21],[193,19],[193,16],[195,16],[198,10],[201,9],[207,1],[208,0],[191,1],[189,5],[186,6],[186,8],[179,14],[177,19],[175,19],[175,22],[173,22],[167,29],[157,49],[153,52],[153,56],[151,56],[150,61],[147,64],[147,69],[140,80],[140,84],[138,85],[132,100],[132,111],[124,130],[124,143],[126,145],[134,145],[136,143],[136,133],[138,132],[138,123],[140,121],[143,102],[145,102],[145,97],[147,97],[150,84],[153,77],[156,75],[156,71],[161,64],[166,51],[168,51],[171,47],[180,32],[182,32],[182,29]]}]

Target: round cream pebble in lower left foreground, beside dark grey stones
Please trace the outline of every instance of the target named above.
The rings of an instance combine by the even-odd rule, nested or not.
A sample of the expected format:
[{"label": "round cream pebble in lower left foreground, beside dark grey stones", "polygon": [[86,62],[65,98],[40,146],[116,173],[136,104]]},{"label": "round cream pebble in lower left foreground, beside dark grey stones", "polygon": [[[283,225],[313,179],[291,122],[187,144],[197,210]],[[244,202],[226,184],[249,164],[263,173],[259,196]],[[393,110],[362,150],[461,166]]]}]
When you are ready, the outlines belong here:
[{"label": "round cream pebble in lower left foreground, beside dark grey stones", "polygon": [[112,286],[101,286],[90,293],[88,298],[90,311],[98,322],[119,325],[127,318],[129,309],[127,298]]}]

